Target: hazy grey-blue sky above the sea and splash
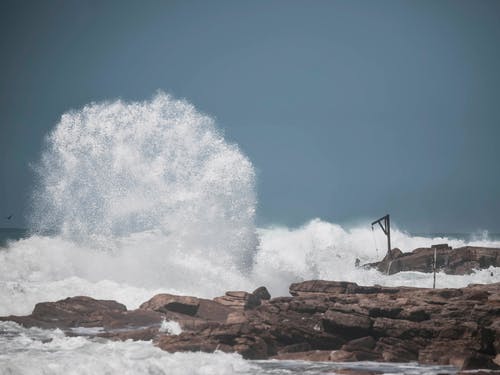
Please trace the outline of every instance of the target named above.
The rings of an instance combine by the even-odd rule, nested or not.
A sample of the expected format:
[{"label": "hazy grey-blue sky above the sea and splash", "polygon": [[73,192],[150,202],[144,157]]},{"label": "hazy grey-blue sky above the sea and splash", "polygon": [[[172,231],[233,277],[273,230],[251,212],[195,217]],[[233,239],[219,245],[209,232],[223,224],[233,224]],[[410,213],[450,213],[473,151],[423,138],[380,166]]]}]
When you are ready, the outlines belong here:
[{"label": "hazy grey-blue sky above the sea and splash", "polygon": [[500,232],[500,1],[4,0],[0,51],[10,225],[62,113],[161,89],[252,160],[261,225]]}]

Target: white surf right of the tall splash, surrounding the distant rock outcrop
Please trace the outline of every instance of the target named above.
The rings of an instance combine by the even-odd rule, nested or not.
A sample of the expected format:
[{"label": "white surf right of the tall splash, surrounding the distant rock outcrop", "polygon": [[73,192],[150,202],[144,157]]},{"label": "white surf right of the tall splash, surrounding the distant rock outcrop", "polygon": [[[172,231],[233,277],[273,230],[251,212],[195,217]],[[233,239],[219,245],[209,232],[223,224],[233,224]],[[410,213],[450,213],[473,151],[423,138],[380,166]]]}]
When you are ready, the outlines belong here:
[{"label": "white surf right of the tall splash, surrounding the distant rock outcrop", "polygon": [[[308,279],[344,280],[361,285],[432,287],[431,274],[402,272],[387,276],[373,269],[356,268],[356,259],[365,264],[378,261],[385,255],[385,250],[380,247],[378,251],[376,249],[376,244],[382,248],[385,244],[383,234],[372,233],[368,225],[347,229],[314,219],[295,229],[260,229],[259,240],[253,277],[267,285],[274,294],[284,295],[290,283]],[[447,237],[411,236],[397,229],[392,231],[393,247],[399,247],[404,252],[443,242],[453,247],[500,247],[499,241],[487,238],[466,242]],[[439,274],[437,277],[438,287],[463,287],[470,283],[492,282],[500,282],[500,270],[482,270],[465,276]]]}]

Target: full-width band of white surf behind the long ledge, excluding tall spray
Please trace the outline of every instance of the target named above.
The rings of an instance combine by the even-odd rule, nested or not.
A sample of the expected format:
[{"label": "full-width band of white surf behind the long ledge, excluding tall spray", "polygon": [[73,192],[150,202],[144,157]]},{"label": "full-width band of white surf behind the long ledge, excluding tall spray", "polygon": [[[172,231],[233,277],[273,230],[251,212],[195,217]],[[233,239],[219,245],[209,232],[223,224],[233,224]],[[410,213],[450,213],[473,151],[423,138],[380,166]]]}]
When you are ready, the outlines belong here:
[{"label": "full-width band of white surf behind the long ledge, excluding tall spray", "polygon": [[[313,220],[296,228],[258,229],[259,246],[248,272],[225,269],[210,257],[171,255],[162,234],[146,232],[121,238],[113,251],[79,245],[60,236],[32,236],[0,251],[0,315],[29,314],[38,302],[75,295],[113,299],[129,309],[158,293],[213,298],[227,290],[253,290],[265,285],[273,296],[288,295],[293,282],[308,279],[345,280],[360,285],[432,287],[432,275],[401,272],[384,275],[355,267],[379,260],[369,228],[344,229]],[[464,241],[415,237],[393,231],[394,244],[404,251],[432,243],[500,247],[498,241]],[[379,243],[382,243],[382,239]],[[166,240],[165,240],[166,241]],[[222,249],[223,250],[223,249]],[[493,274],[493,275],[492,275]],[[500,282],[500,270],[470,275],[437,275],[438,287]]]}]

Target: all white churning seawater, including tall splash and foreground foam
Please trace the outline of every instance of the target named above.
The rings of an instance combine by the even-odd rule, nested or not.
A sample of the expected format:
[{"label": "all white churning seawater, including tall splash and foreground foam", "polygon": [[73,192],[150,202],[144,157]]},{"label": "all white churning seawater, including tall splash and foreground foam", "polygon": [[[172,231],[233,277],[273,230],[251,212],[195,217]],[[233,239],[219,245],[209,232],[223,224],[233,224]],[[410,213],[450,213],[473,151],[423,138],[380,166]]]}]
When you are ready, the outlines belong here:
[{"label": "all white churning seawater, including tall splash and foreground foam", "polygon": [[[185,101],[92,103],[65,113],[37,165],[30,231],[0,231],[0,315],[29,314],[37,302],[88,295],[137,308],[157,293],[215,297],[292,282],[430,287],[417,272],[383,275],[354,266],[379,260],[384,237],[368,225],[313,218],[297,228],[256,227],[255,172],[214,121]],[[403,251],[446,242],[500,247],[496,236],[412,235]],[[500,282],[500,270],[438,274],[438,287]],[[237,354],[169,354],[149,342],[66,337],[0,325],[0,374],[323,374],[340,365],[245,361]],[[453,373],[415,364],[343,364],[356,371]]]}]

